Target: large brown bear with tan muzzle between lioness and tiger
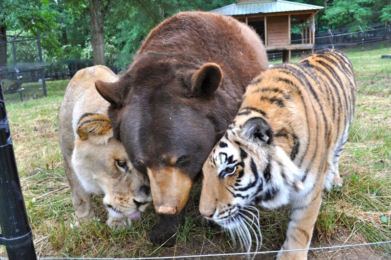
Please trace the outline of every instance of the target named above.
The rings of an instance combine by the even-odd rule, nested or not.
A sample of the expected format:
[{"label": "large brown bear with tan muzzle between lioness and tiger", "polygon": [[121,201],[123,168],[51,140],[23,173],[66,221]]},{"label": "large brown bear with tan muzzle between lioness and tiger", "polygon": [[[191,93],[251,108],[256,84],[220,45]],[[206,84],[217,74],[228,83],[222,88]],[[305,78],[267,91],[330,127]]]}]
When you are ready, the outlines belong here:
[{"label": "large brown bear with tan muzzle between lioness and tiger", "polygon": [[153,243],[174,245],[173,227],[184,221],[203,163],[235,116],[245,87],[267,68],[261,39],[246,24],[182,12],[151,31],[118,82],[95,82],[111,104],[115,137],[150,178],[161,214]]}]

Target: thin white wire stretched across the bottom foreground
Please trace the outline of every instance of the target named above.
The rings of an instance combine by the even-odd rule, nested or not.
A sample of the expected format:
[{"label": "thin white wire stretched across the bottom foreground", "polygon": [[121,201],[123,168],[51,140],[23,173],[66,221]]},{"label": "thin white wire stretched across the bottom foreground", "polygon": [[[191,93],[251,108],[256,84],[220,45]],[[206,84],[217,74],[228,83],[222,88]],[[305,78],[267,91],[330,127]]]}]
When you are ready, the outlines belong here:
[{"label": "thin white wire stretched across the bottom foreground", "polygon": [[[292,250],[280,250],[280,251],[263,251],[263,252],[248,252],[248,253],[229,253],[229,254],[212,254],[212,255],[192,255],[192,256],[172,256],[172,257],[145,257],[145,258],[38,258],[38,260],[147,260],[147,259],[175,259],[175,258],[195,258],[195,257],[223,257],[223,256],[244,256],[250,254],[270,254],[270,253],[279,253],[279,252],[293,252],[293,251],[303,251],[303,250],[322,250],[322,249],[335,249],[335,248],[345,248],[345,247],[354,247],[354,246],[367,246],[367,245],[380,245],[391,243],[391,241],[375,242],[375,243],[365,243],[365,244],[355,244],[355,245],[340,245],[340,246],[326,246],[326,247],[314,247],[307,249],[292,249]],[[0,260],[8,260],[8,258],[1,258]]]}]

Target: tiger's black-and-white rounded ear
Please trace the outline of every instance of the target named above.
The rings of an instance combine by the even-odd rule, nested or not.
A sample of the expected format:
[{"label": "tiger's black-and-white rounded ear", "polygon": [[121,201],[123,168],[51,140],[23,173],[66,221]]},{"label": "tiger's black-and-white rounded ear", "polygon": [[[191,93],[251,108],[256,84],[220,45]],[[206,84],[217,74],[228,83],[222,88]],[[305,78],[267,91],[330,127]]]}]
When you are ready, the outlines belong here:
[{"label": "tiger's black-and-white rounded ear", "polygon": [[254,117],[248,119],[240,129],[240,137],[247,141],[273,142],[273,130],[268,122],[263,118]]}]

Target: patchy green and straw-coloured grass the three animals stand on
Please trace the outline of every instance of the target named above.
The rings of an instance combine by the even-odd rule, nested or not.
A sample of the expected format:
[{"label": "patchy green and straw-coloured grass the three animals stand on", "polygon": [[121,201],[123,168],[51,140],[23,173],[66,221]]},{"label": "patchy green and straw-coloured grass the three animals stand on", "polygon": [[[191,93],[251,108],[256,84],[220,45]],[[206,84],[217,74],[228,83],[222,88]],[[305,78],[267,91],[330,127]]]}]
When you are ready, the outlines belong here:
[{"label": "patchy green and straw-coloured grass the three animals stand on", "polygon": [[[391,60],[380,58],[390,54],[391,47],[345,52],[353,63],[358,86],[355,119],[339,164],[345,184],[325,192],[311,247],[328,246],[333,239],[334,244],[391,240]],[[293,57],[292,61],[298,59]],[[229,236],[211,228],[199,215],[199,184],[192,191],[186,223],[173,248],[158,247],[149,240],[158,221],[153,207],[128,230],[111,231],[105,224],[102,196],[93,196],[97,219],[83,223],[80,229],[71,228],[74,210],[62,167],[57,123],[67,82],[47,82],[47,98],[6,104],[24,200],[40,257],[130,258],[238,252]],[[260,212],[261,250],[278,250],[289,211]],[[344,238],[342,233],[346,234]],[[381,255],[391,256],[390,244],[376,249]],[[4,247],[0,247],[0,257],[5,256]],[[311,258],[323,259],[318,253],[310,254]]]}]

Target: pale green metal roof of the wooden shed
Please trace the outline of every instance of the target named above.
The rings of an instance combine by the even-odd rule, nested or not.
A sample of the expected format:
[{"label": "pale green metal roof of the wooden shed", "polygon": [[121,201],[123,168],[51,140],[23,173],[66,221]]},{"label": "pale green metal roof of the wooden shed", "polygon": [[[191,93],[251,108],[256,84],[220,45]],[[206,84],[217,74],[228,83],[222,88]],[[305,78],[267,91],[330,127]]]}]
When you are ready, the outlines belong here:
[{"label": "pale green metal roof of the wooden shed", "polygon": [[259,13],[281,13],[291,11],[320,10],[322,6],[289,2],[284,0],[258,0],[248,2],[237,2],[215,10],[211,13],[222,15],[247,15]]}]

